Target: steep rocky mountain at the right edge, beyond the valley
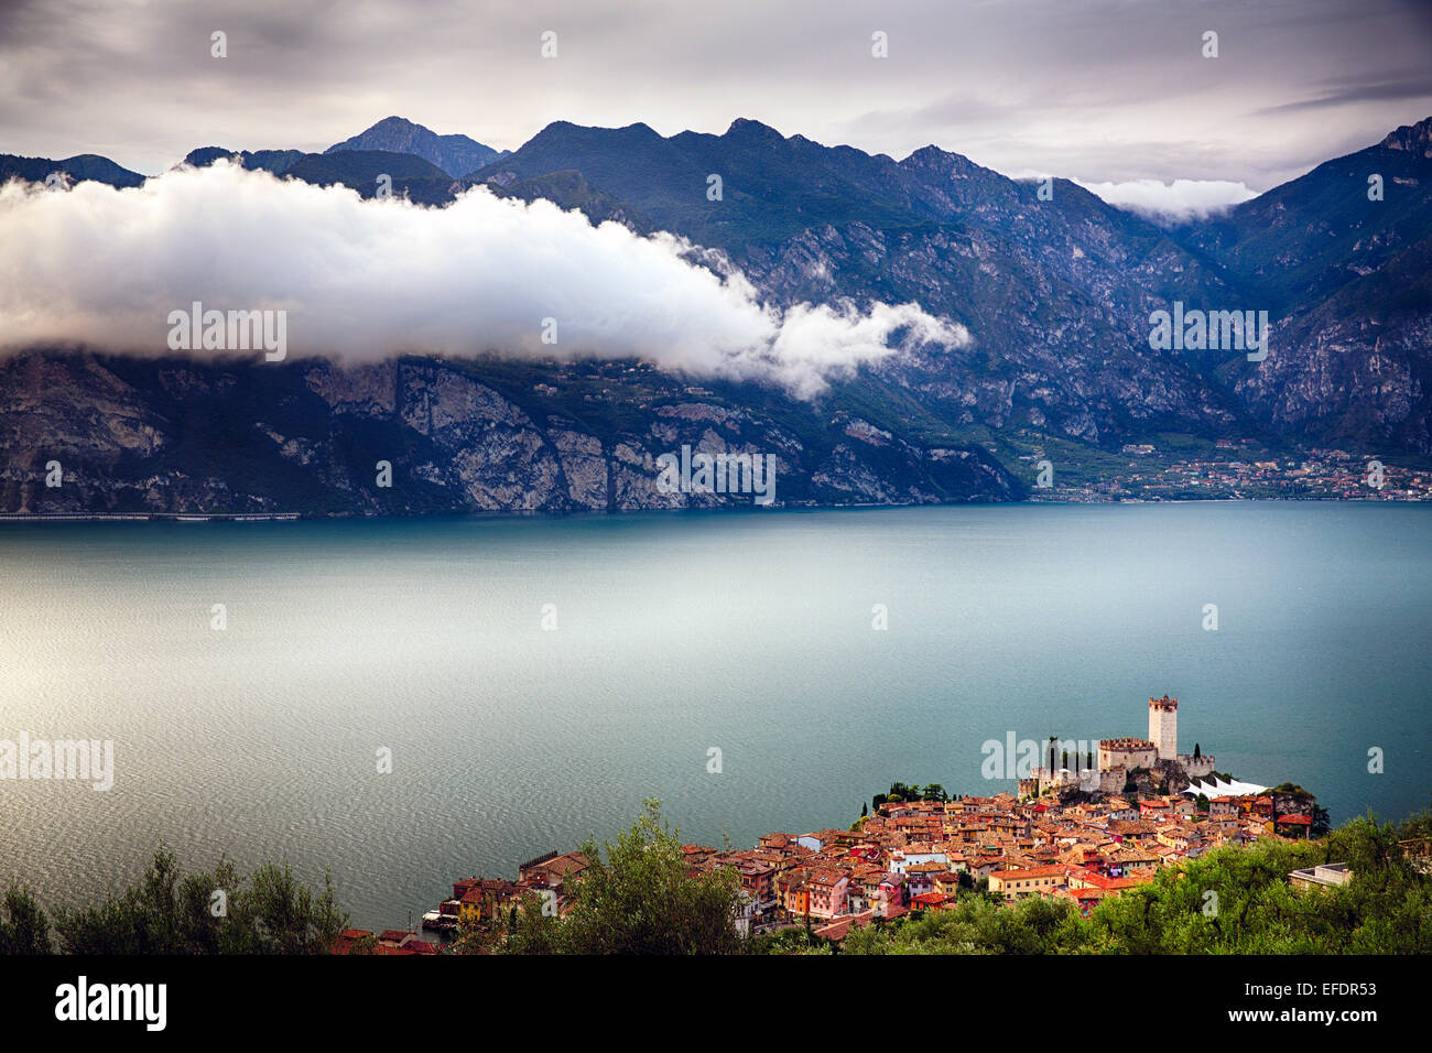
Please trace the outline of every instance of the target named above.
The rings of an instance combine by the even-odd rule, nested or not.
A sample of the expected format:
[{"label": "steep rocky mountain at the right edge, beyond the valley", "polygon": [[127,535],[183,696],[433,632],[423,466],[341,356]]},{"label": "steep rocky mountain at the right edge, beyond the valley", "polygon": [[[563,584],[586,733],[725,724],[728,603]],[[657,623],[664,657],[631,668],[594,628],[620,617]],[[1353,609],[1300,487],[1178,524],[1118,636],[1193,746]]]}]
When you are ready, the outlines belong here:
[{"label": "steep rocky mountain at the right edge, beyond the valley", "polygon": [[1189,228],[1181,241],[1282,318],[1233,393],[1319,444],[1432,451],[1432,117]]}]

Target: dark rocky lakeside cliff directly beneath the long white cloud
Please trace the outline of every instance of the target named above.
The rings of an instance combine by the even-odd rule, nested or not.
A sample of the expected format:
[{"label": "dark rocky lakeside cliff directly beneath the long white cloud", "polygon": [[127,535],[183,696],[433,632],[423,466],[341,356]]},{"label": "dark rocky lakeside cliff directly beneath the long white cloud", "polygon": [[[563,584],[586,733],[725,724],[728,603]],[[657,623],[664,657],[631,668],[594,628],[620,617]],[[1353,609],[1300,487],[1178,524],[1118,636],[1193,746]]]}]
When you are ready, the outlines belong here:
[{"label": "dark rocky lakeside cliff directly beneath the long white cloud", "polygon": [[[775,456],[776,504],[1012,500],[979,447],[922,446],[849,411],[684,385],[633,362],[404,358],[263,370],[33,354],[0,361],[0,510],[579,511],[746,506],[663,493],[683,446]],[[63,484],[44,484],[59,460]],[[379,483],[379,461],[391,486]]]}]

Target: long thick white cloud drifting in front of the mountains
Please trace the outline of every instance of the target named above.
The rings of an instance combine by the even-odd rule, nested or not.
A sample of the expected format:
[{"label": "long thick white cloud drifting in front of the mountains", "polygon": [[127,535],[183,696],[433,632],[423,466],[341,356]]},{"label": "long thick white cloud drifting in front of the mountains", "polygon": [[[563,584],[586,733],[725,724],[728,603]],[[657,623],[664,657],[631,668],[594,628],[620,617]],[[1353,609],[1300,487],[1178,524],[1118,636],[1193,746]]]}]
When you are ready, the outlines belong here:
[{"label": "long thick white cloud drifting in front of the mountains", "polygon": [[[591,226],[481,188],[435,209],[226,162],[129,191],[11,182],[0,189],[0,348],[166,352],[169,312],[199,301],[285,309],[289,357],[639,357],[812,397],[902,347],[968,341],[915,304],[779,311],[689,252],[672,235]],[[546,318],[556,345],[541,342]]]}]

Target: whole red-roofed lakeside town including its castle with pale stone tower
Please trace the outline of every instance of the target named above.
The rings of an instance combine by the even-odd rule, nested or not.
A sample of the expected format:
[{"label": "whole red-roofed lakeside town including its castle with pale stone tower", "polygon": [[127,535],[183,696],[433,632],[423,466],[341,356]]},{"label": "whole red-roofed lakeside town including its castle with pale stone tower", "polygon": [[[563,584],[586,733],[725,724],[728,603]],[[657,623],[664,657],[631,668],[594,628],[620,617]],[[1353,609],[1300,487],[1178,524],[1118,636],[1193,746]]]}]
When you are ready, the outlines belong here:
[{"label": "whole red-roofed lakeside town including its castle with pale stone tower", "polygon": [[[1095,768],[1051,762],[1018,779],[1015,794],[992,797],[896,788],[908,795],[878,795],[874,812],[845,830],[766,834],[748,850],[692,844],[682,851],[693,872],[727,867],[739,874],[743,934],[806,927],[839,943],[852,927],[952,905],[959,890],[1008,903],[1051,897],[1088,914],[1160,868],[1221,845],[1316,835],[1326,819],[1302,788],[1221,778],[1211,755],[1180,754],[1179,701],[1167,695],[1148,699],[1147,738],[1098,742]],[[461,878],[422,927],[441,938],[498,921],[524,900],[561,914],[586,868],[581,852],[551,851],[521,864],[516,881]],[[1315,870],[1290,880],[1342,884],[1349,877],[1346,868]],[[359,941],[385,954],[442,948],[410,928],[348,930],[335,950]]]}]

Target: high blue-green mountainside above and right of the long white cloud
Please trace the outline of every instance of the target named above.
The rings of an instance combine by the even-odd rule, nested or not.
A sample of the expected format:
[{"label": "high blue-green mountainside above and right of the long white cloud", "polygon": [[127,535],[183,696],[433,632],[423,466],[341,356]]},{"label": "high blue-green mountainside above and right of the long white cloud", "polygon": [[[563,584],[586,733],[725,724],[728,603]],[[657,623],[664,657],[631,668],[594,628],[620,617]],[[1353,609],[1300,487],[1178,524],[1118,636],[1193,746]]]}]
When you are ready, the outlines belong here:
[{"label": "high blue-green mountainside above and right of the long white cloud", "polygon": [[[1432,119],[1227,218],[1167,231],[1055,181],[1050,201],[928,146],[895,162],[737,120],[664,139],[556,123],[464,182],[551,196],[725,249],[778,302],[916,299],[975,345],[885,371],[974,430],[1114,446],[1150,431],[1269,433],[1432,454],[1425,268]],[[710,176],[723,199],[707,201]],[[1370,175],[1383,199],[1370,201]],[[1151,311],[1269,311],[1274,350],[1148,347]]]}]

